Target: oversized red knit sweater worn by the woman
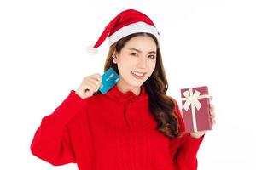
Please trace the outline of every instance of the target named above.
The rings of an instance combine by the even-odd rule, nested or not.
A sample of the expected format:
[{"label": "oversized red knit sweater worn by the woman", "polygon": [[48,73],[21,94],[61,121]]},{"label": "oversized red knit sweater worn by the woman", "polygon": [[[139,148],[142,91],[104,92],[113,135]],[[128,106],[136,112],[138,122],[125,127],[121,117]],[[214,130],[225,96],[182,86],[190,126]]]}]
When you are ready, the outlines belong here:
[{"label": "oversized red knit sweater worn by the woman", "polygon": [[[176,102],[176,114],[184,130]],[[32,154],[53,165],[77,163],[79,170],[195,170],[204,138],[189,133],[168,139],[156,130],[148,94],[107,94],[82,99],[71,90],[61,105],[42,119]]]}]

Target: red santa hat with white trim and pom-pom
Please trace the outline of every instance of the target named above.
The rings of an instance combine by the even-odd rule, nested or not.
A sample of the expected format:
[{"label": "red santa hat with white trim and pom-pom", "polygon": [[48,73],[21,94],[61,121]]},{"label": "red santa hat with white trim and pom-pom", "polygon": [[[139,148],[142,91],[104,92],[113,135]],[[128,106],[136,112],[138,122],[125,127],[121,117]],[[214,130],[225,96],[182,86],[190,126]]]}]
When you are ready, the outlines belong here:
[{"label": "red santa hat with white trim and pom-pom", "polygon": [[150,18],[137,10],[127,9],[118,14],[105,26],[101,37],[94,46],[87,48],[89,54],[96,54],[97,48],[102,45],[102,42],[108,37],[108,45],[111,46],[114,42],[118,42],[121,38],[137,32],[147,32],[153,34],[159,39],[159,32],[156,30],[154,23]]}]

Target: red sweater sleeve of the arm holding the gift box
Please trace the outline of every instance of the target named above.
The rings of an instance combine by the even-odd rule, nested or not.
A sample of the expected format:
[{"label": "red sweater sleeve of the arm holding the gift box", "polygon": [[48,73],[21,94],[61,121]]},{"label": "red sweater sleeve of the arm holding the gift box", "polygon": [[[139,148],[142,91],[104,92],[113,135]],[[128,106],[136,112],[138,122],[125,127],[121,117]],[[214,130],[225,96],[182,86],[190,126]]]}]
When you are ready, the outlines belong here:
[{"label": "red sweater sleeve of the arm holding the gift box", "polygon": [[204,135],[200,139],[195,139],[190,136],[190,133],[184,133],[184,122],[181,116],[181,111],[175,102],[175,112],[180,126],[180,132],[183,133],[183,137],[180,139],[180,146],[175,156],[175,165],[178,170],[196,170],[197,169],[197,151],[200,144],[204,139]]}]

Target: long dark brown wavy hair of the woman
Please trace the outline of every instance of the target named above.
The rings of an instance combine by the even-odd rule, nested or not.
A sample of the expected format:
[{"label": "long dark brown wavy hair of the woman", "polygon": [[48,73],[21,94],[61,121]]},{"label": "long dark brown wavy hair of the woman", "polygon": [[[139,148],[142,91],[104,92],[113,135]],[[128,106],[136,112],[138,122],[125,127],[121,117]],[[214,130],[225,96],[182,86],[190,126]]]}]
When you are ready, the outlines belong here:
[{"label": "long dark brown wavy hair of the woman", "polygon": [[144,82],[146,92],[148,94],[149,110],[154,116],[154,120],[158,122],[156,127],[161,133],[164,133],[169,139],[174,137],[180,137],[179,124],[177,116],[173,113],[175,110],[175,103],[170,96],[166,95],[168,89],[168,82],[166,79],[166,72],[162,63],[162,56],[160,53],[159,44],[157,39],[149,33],[135,33],[127,37],[123,37],[118,42],[113,43],[108,51],[108,57],[105,61],[104,71],[107,71],[110,67],[113,68],[119,74],[119,70],[116,64],[113,63],[114,52],[119,53],[124,48],[125,43],[132,37],[136,36],[148,36],[154,39],[157,46],[156,65],[155,69],[148,80]]}]

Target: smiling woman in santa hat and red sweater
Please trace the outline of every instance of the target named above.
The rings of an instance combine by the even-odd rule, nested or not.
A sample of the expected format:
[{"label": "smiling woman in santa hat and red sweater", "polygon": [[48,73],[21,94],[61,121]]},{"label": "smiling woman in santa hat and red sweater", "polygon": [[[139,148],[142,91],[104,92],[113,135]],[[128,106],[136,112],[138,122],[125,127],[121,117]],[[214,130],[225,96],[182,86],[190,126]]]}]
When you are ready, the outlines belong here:
[{"label": "smiling woman in santa hat and red sweater", "polygon": [[195,170],[205,132],[184,133],[177,102],[166,95],[153,22],[128,9],[110,21],[94,48],[106,37],[110,48],[104,70],[112,67],[119,82],[101,94],[102,77],[84,77],[79,88],[42,119],[32,153],[53,165],[77,163],[79,170]]}]

